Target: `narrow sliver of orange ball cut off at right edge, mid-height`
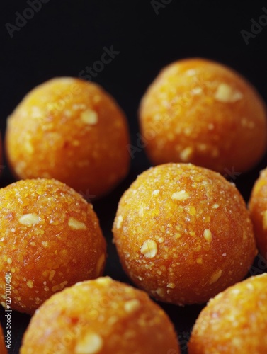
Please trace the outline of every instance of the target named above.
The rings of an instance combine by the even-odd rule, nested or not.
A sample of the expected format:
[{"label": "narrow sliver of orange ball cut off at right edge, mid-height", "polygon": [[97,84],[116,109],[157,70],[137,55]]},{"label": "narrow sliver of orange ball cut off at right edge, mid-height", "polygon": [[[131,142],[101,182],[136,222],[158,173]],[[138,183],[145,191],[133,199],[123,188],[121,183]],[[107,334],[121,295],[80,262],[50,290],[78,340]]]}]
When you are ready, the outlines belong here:
[{"label": "narrow sliver of orange ball cut off at right edge, mid-height", "polygon": [[249,200],[256,243],[261,255],[267,259],[267,169],[261,171],[254,183]]}]

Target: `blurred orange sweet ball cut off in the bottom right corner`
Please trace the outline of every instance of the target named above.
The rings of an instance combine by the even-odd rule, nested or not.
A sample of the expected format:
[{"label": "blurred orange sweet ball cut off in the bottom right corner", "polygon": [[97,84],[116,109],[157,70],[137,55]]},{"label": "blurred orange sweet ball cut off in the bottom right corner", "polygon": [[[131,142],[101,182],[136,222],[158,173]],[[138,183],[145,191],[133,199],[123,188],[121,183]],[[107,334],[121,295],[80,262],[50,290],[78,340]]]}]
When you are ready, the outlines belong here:
[{"label": "blurred orange sweet ball cut off in the bottom right corner", "polygon": [[221,292],[200,312],[189,354],[267,353],[267,274]]}]

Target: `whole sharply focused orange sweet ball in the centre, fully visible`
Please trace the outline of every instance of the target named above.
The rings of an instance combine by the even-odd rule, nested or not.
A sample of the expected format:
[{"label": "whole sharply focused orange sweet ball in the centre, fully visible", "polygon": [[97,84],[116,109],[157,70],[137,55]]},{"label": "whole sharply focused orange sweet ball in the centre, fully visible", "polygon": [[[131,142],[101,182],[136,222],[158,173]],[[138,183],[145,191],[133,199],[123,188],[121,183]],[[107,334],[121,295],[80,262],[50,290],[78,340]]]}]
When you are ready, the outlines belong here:
[{"label": "whole sharply focused orange sweet ball in the centre, fully visible", "polygon": [[144,171],[120,199],[113,224],[127,275],[152,297],[206,302],[242,280],[256,256],[237,188],[192,164]]}]

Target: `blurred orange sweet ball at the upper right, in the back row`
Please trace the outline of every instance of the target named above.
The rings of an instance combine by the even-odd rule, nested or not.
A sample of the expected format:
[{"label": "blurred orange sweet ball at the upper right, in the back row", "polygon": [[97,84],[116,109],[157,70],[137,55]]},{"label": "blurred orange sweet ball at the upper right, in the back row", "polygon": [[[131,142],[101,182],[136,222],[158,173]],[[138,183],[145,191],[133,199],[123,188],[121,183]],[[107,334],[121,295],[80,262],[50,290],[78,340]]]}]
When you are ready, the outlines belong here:
[{"label": "blurred orange sweet ball at the upper right, in the back row", "polygon": [[140,104],[153,164],[191,162],[218,171],[251,169],[266,151],[266,106],[248,81],[207,59],[162,69]]}]

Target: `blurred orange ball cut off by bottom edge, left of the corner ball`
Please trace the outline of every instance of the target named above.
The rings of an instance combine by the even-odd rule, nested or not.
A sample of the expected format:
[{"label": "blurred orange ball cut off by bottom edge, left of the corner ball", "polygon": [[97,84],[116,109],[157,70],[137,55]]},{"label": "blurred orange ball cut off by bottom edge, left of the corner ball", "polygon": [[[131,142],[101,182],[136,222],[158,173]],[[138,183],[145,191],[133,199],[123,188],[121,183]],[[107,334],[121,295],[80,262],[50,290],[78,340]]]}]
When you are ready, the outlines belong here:
[{"label": "blurred orange ball cut off by bottom edge, left of the corner ball", "polygon": [[21,354],[179,354],[174,326],[145,292],[108,277],[48,299],[30,321]]}]

